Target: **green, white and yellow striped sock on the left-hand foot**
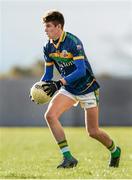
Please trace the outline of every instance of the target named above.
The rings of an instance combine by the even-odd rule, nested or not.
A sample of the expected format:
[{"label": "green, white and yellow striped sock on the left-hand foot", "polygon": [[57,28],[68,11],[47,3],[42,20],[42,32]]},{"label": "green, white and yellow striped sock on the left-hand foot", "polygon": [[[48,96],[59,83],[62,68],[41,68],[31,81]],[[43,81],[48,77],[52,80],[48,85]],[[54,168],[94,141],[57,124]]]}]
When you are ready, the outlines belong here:
[{"label": "green, white and yellow striped sock on the left-hand foot", "polygon": [[60,147],[60,150],[61,150],[61,153],[63,154],[63,156],[64,156],[65,158],[70,159],[70,158],[72,157],[72,155],[71,155],[71,152],[70,152],[70,150],[69,150],[67,141],[66,141],[66,140],[63,140],[63,141],[59,142],[58,145],[59,145],[59,147]]}]

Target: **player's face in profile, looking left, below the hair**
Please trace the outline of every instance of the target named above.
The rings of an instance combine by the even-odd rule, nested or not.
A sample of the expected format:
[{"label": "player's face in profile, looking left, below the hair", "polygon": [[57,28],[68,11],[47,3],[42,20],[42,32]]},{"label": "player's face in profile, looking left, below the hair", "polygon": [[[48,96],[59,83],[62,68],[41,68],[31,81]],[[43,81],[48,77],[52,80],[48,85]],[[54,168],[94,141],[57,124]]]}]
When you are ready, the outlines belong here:
[{"label": "player's face in profile, looking left, below the hair", "polygon": [[49,39],[56,39],[60,32],[60,25],[55,26],[52,22],[45,23],[45,32]]}]

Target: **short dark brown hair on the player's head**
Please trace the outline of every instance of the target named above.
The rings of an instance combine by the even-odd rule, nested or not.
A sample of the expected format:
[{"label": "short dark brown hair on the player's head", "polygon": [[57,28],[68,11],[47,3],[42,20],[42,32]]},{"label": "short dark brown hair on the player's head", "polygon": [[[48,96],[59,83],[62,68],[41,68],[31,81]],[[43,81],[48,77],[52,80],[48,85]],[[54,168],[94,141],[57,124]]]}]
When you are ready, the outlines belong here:
[{"label": "short dark brown hair on the player's head", "polygon": [[45,16],[43,16],[43,23],[52,22],[55,26],[61,24],[62,29],[64,27],[64,16],[59,11],[48,11]]}]

